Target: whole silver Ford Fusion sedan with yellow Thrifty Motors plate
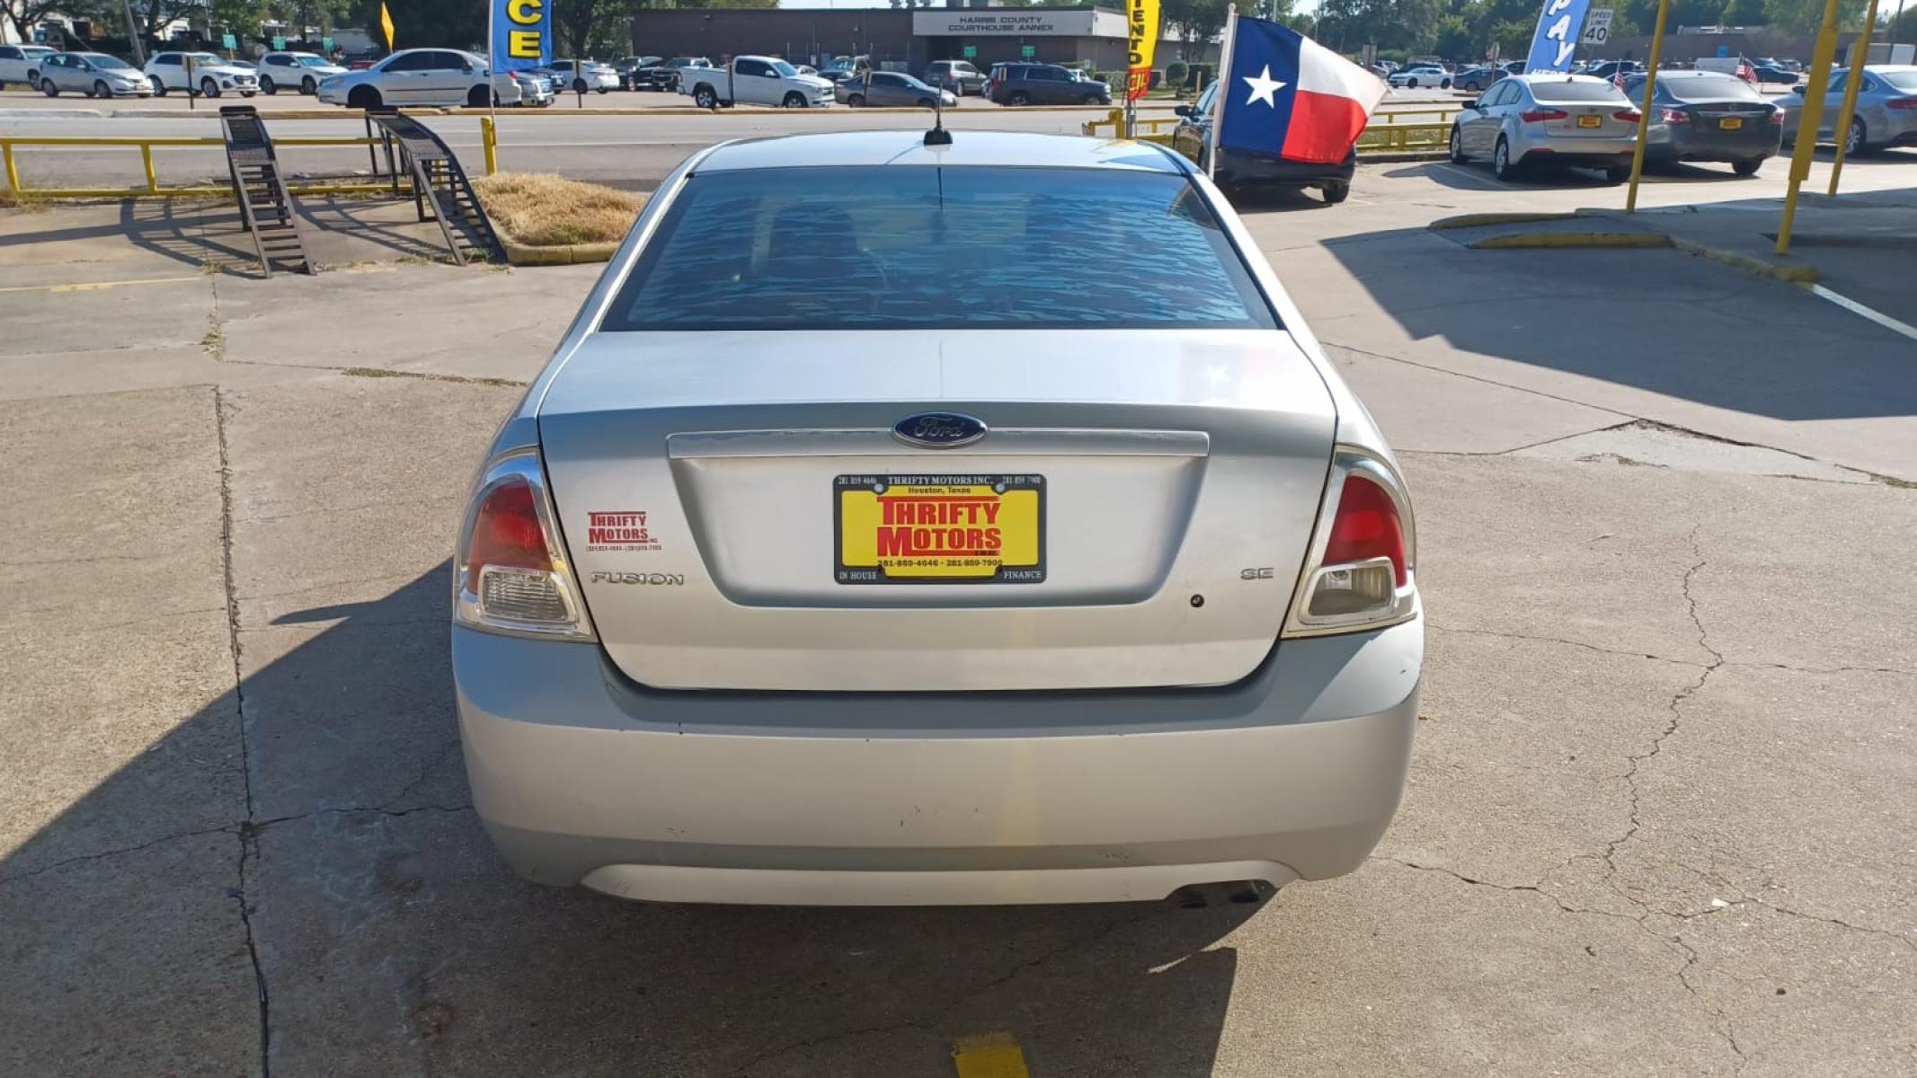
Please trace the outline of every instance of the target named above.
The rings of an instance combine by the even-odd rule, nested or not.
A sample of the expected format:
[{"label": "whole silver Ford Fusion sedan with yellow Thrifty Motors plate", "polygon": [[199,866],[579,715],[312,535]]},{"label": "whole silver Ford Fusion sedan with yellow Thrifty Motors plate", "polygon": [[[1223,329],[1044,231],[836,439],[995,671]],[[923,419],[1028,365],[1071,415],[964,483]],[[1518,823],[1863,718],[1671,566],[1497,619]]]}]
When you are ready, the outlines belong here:
[{"label": "whole silver Ford Fusion sedan with yellow Thrifty Motors plate", "polygon": [[473,804],[663,902],[1158,900],[1355,869],[1417,716],[1411,504],[1156,146],[717,146],[500,427]]}]

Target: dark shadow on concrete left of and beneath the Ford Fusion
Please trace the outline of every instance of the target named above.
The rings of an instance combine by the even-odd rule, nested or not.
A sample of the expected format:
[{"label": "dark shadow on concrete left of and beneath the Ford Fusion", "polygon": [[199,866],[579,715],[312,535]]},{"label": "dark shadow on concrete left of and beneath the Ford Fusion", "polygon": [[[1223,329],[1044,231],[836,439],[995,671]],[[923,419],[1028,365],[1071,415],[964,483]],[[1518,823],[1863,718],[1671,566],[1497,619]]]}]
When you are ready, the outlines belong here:
[{"label": "dark shadow on concrete left of and beneath the Ford Fusion", "polygon": [[[953,1042],[983,1032],[1051,1074],[1213,1070],[1236,977],[1217,944],[1256,904],[646,906],[518,879],[470,810],[447,574],[242,628],[238,693],[0,862],[6,982],[38,988],[6,1011],[58,1030],[29,1038],[27,1072],[98,1072],[102,1051],[130,1072],[242,1070],[265,1051],[284,1074],[947,1076]],[[220,745],[245,768],[238,816],[203,808],[182,827],[197,839],[140,848],[232,854],[77,873],[111,864],[104,820],[217,802],[190,760]],[[182,917],[207,942],[155,952]],[[215,1040],[245,1055],[192,1047]]]}]

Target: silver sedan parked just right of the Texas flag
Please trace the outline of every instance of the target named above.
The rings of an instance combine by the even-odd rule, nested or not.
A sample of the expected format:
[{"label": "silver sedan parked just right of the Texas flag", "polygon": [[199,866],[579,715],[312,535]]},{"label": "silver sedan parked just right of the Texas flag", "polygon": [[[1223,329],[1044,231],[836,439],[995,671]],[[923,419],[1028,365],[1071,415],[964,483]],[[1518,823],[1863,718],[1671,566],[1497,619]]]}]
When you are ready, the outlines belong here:
[{"label": "silver sedan parked just right of the Texas flag", "polygon": [[1451,161],[1490,157],[1511,180],[1539,165],[1603,168],[1622,184],[1631,176],[1637,109],[1589,75],[1513,75],[1465,105],[1451,124]]}]

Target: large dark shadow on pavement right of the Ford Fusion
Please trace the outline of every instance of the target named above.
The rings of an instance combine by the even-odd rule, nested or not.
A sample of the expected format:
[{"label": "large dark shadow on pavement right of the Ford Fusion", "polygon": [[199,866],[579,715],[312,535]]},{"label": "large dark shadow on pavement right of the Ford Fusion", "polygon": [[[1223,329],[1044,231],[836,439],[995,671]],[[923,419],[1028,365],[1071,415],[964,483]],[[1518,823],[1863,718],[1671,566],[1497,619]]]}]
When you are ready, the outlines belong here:
[{"label": "large dark shadow on pavement right of the Ford Fusion", "polygon": [[[1752,245],[1767,247],[1764,234],[1777,228],[1775,199],[1710,211],[1733,230],[1725,236],[1748,234]],[[1842,220],[1846,211],[1831,213]],[[1656,228],[1660,214],[1643,216]],[[1683,214],[1681,224],[1691,220],[1702,218]],[[1800,214],[1800,230],[1808,220]],[[1511,360],[1773,419],[1917,415],[1909,341],[1796,283],[1681,251],[1463,243],[1457,232],[1426,230],[1327,241],[1371,303],[1317,316],[1319,337],[1407,360],[1436,339],[1447,356],[1482,356],[1468,364],[1472,375],[1507,381],[1497,360]]]}]

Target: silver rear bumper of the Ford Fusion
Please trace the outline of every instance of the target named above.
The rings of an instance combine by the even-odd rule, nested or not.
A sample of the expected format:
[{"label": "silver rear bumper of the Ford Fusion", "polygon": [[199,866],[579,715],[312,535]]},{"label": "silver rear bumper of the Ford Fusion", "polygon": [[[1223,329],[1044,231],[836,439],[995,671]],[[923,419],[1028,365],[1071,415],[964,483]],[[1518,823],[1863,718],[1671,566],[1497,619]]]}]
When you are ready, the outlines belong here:
[{"label": "silver rear bumper of the Ford Fusion", "polygon": [[452,630],[473,806],[521,875],[667,902],[1156,900],[1355,869],[1403,793],[1424,630],[1223,689],[665,693]]}]

